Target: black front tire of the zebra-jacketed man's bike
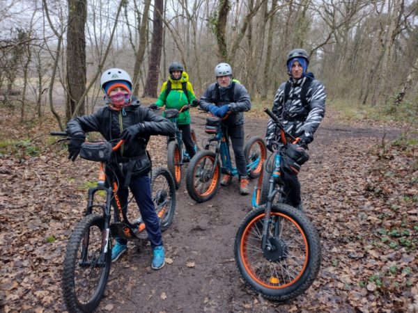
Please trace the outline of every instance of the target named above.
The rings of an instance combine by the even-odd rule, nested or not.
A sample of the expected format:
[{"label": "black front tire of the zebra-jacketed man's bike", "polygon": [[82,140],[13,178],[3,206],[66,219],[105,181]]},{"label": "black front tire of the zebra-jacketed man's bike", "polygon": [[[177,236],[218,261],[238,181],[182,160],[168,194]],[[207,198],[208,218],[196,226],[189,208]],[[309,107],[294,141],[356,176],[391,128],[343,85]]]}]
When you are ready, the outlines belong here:
[{"label": "black front tire of the zebra-jacketed man's bike", "polygon": [[235,261],[238,266],[238,270],[242,275],[242,278],[249,285],[249,287],[251,287],[251,289],[257,293],[260,293],[264,298],[269,300],[275,300],[279,302],[291,300],[304,293],[304,291],[306,291],[311,286],[311,284],[316,279],[316,276],[318,275],[321,261],[321,248],[318,232],[316,231],[314,225],[312,225],[309,218],[307,218],[307,216],[305,216],[302,211],[299,211],[283,203],[273,204],[272,214],[279,213],[283,214],[284,216],[288,216],[289,218],[293,219],[295,223],[297,223],[297,225],[299,225],[302,229],[302,232],[307,240],[308,261],[307,266],[304,267],[304,271],[300,277],[288,287],[283,287],[282,289],[264,287],[263,285],[256,282],[256,280],[251,278],[251,275],[247,272],[244,265],[245,262],[243,261],[244,256],[241,253],[240,246],[242,243],[242,236],[244,235],[247,225],[249,225],[249,223],[254,221],[257,217],[263,217],[264,211],[265,206],[258,207],[250,211],[249,214],[247,214],[247,216],[245,216],[245,218],[242,220],[240,227],[238,228],[238,232],[235,236]]}]

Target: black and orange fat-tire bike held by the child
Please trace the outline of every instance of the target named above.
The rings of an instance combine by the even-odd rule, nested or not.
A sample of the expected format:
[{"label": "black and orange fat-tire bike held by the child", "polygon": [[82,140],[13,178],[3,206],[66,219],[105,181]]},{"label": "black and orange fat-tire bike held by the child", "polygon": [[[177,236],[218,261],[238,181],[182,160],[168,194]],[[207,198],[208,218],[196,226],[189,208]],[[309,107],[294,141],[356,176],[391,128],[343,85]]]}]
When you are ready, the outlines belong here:
[{"label": "black and orange fat-tire bike held by the child", "polygon": [[[52,131],[51,135],[67,136],[65,131]],[[121,186],[116,172],[121,168],[113,152],[122,143],[118,141],[115,146],[109,141],[82,144],[80,157],[99,161],[100,172],[98,186],[88,189],[84,218],[72,230],[65,252],[62,289],[68,312],[93,312],[98,307],[109,278],[111,238],[140,239],[141,232],[145,230],[139,211],[128,212],[118,199],[117,191]],[[168,170],[156,168],[151,170],[150,181],[155,211],[164,232],[171,225],[176,209],[173,177]],[[119,222],[111,222],[112,211],[118,214]]]}]

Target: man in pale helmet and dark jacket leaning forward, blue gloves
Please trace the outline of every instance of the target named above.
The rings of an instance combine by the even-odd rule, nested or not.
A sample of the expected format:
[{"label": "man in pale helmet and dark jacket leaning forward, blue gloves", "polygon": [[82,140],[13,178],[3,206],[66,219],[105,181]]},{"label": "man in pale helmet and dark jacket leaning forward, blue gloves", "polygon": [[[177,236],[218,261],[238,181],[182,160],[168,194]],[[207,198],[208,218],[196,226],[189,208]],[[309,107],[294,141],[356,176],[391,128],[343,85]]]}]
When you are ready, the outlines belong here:
[{"label": "man in pale helmet and dark jacket leaning forward, blue gloves", "polygon": [[[218,118],[224,118],[227,136],[231,140],[235,165],[240,175],[240,194],[248,195],[247,162],[244,155],[244,113],[251,109],[251,99],[247,89],[232,79],[232,68],[228,63],[219,63],[215,66],[217,82],[210,84],[200,99],[202,109],[212,113]],[[225,174],[221,185],[227,186],[232,182],[232,175]]]}]

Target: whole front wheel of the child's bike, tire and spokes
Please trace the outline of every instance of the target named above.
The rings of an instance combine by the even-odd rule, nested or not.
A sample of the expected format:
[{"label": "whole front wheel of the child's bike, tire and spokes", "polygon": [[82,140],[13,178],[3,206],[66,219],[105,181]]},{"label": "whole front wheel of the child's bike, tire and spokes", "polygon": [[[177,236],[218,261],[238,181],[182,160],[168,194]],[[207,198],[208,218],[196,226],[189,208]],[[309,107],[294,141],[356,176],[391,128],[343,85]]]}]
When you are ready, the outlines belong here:
[{"label": "whole front wheel of the child's bike, tire and spokes", "polygon": [[93,312],[98,307],[110,266],[111,243],[104,218],[85,216],[72,231],[63,263],[62,288],[68,312]]}]

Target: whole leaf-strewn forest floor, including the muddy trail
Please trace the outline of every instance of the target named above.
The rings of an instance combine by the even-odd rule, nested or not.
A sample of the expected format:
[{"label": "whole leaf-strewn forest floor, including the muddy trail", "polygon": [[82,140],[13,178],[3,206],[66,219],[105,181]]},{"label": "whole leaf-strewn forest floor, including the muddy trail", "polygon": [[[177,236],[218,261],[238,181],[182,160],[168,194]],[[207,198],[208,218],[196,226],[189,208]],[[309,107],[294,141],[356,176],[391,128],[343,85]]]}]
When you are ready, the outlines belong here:
[{"label": "whole leaf-strewn forest floor, including the muddy trail", "polygon": [[[193,121],[198,138],[207,138],[204,115]],[[247,139],[264,136],[266,123],[250,115]],[[54,130],[52,120],[20,125],[0,108],[0,125],[1,141],[9,141],[0,147],[0,312],[63,312],[65,245],[98,166],[72,163],[56,138],[38,137]],[[318,278],[302,296],[274,303],[240,277],[233,244],[251,195],[239,195],[236,179],[201,204],[183,180],[163,234],[166,265],[153,271],[147,241],[129,243],[98,312],[418,312],[418,150],[394,141],[404,129],[343,123],[327,112],[300,172],[304,211],[322,244]],[[165,138],[153,138],[149,150],[164,166]]]}]

